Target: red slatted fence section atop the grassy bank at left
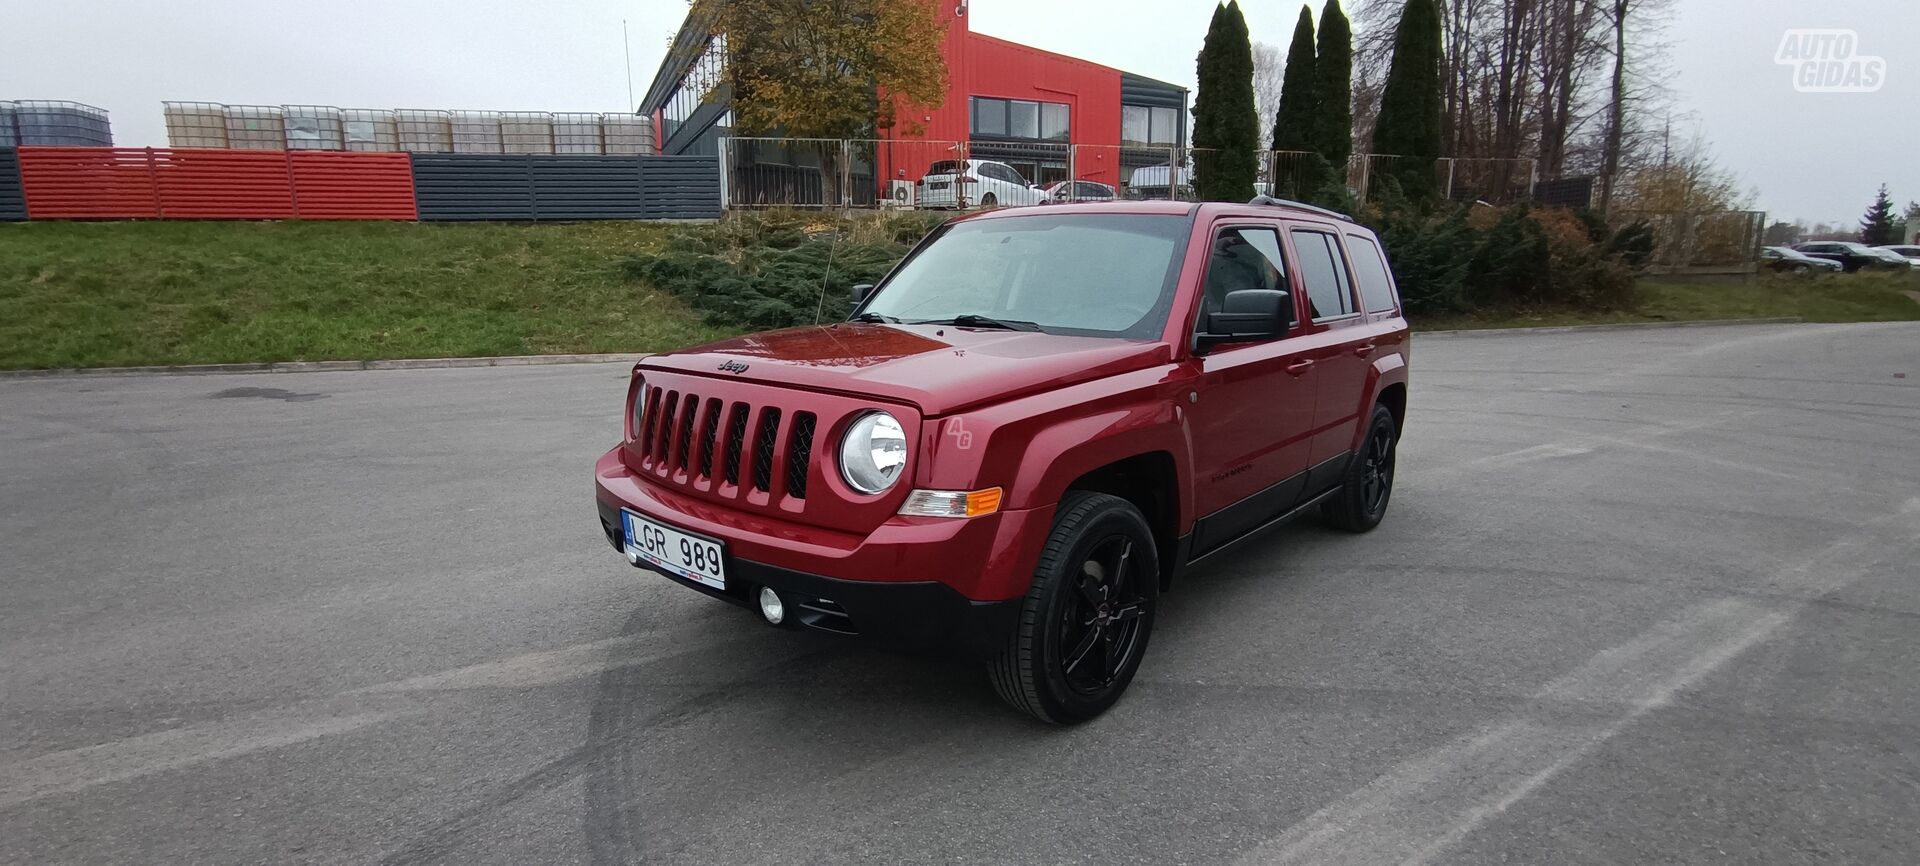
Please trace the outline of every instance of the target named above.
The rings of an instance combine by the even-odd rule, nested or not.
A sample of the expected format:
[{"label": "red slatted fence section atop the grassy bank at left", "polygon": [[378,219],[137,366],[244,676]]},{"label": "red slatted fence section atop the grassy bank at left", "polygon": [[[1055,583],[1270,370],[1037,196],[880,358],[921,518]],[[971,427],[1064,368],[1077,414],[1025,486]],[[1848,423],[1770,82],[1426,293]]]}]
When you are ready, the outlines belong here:
[{"label": "red slatted fence section atop the grassy bank at left", "polygon": [[407,154],[19,148],[29,219],[419,219]]}]

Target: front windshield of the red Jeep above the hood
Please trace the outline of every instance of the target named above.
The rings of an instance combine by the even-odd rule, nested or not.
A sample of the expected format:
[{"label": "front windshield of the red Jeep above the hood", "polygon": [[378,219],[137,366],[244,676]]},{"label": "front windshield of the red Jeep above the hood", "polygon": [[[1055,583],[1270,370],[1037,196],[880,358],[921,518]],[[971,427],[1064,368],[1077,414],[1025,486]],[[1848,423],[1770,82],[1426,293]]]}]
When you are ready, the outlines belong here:
[{"label": "front windshield of the red Jeep above the hood", "polygon": [[1167,323],[1188,227],[1188,217],[1112,213],[956,223],[906,259],[862,313],[1150,340]]}]

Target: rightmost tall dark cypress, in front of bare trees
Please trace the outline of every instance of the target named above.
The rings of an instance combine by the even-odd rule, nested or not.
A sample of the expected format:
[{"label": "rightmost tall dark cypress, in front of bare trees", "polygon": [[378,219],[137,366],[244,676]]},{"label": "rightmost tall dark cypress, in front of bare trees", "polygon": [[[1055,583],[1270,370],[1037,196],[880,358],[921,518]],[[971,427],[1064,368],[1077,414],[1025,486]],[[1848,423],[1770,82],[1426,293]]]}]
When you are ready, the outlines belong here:
[{"label": "rightmost tall dark cypress, in front of bare trees", "polygon": [[1440,54],[1440,10],[1434,0],[1407,0],[1394,29],[1394,61],[1380,92],[1373,152],[1398,156],[1386,173],[1415,200],[1432,200],[1438,186]]}]

